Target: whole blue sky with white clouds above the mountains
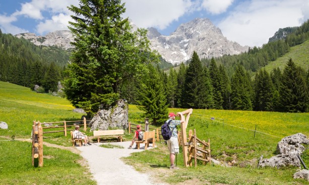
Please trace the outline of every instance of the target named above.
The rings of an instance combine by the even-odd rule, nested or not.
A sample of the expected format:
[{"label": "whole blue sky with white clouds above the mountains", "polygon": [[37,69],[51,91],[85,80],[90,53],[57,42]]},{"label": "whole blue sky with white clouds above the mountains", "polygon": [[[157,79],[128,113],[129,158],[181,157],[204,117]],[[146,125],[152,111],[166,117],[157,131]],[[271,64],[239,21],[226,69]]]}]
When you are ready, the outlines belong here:
[{"label": "whole blue sky with white clouds above the mountains", "polygon": [[[170,35],[181,24],[208,18],[222,34],[242,46],[268,42],[279,28],[300,26],[309,19],[309,0],[121,0],[123,18],[140,28],[156,28]],[[3,33],[45,36],[68,30],[78,0],[0,0]]]}]

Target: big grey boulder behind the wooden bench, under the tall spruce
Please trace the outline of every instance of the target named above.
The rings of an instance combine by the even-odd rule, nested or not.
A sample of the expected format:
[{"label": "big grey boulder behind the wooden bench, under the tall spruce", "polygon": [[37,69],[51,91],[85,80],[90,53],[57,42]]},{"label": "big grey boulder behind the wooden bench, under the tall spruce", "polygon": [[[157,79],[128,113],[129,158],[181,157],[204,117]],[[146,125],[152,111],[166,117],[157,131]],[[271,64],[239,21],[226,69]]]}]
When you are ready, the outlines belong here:
[{"label": "big grey boulder behind the wooden bench, under the tall spruce", "polygon": [[108,130],[108,128],[127,129],[129,126],[127,102],[119,100],[114,107],[99,110],[90,121],[90,126],[90,131]]}]

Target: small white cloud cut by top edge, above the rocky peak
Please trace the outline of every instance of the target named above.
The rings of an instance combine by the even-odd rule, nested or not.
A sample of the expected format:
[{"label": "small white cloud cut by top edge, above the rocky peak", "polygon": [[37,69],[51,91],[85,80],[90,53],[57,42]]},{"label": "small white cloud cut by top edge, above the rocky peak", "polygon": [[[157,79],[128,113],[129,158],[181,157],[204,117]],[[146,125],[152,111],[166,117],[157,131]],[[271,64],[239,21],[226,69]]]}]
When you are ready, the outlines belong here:
[{"label": "small white cloud cut by top edge, above the rocky peak", "polygon": [[221,14],[232,5],[234,0],[203,0],[202,7],[211,14]]}]

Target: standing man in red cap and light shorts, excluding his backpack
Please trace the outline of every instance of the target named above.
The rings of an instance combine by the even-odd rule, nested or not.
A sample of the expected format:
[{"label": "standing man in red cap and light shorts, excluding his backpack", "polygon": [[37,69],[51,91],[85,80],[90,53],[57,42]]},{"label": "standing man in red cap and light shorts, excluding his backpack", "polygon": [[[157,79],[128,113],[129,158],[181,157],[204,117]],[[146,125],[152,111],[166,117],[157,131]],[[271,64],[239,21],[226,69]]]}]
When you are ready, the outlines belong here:
[{"label": "standing man in red cap and light shorts, excluding his backpack", "polygon": [[172,131],[172,136],[169,140],[167,140],[167,147],[169,150],[169,160],[170,160],[170,167],[169,169],[179,169],[175,166],[175,154],[179,153],[179,145],[178,145],[178,139],[177,139],[177,125],[180,125],[180,123],[184,122],[184,117],[182,113],[177,113],[177,116],[180,116],[180,120],[175,120],[176,115],[174,113],[169,113],[168,120],[169,122],[168,126],[170,130]]}]

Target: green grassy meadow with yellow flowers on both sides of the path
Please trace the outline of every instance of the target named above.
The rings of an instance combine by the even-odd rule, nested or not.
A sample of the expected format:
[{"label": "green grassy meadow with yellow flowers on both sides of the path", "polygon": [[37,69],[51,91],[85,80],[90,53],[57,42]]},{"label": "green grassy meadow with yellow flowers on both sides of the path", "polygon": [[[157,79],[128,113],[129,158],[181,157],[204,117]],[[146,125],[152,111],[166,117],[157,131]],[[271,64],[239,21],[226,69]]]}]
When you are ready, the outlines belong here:
[{"label": "green grassy meadow with yellow flowers on both sides of the path", "polygon": [[[82,157],[68,150],[44,146],[43,167],[31,165],[28,141],[33,121],[80,120],[82,114],[74,113],[73,109],[66,99],[0,81],[0,121],[9,125],[9,129],[0,130],[0,184],[96,184],[81,162]],[[144,119],[142,111],[129,105],[130,122],[143,124]],[[176,162],[180,169],[170,172],[169,154],[163,141],[157,142],[154,149],[133,153],[123,160],[171,184],[190,180],[196,184],[308,184],[306,180],[293,179],[296,167],[257,168],[257,164],[261,155],[264,158],[276,155],[277,143],[283,137],[296,133],[308,137],[309,113],[193,110],[187,131],[190,129],[196,129],[198,138],[210,139],[212,158],[222,165],[202,165],[198,161],[198,167],[186,168],[179,153]],[[126,135],[124,140],[132,138]],[[45,134],[43,141],[71,147],[69,132],[67,137],[63,132]],[[301,157],[309,166],[309,151]]]}]

